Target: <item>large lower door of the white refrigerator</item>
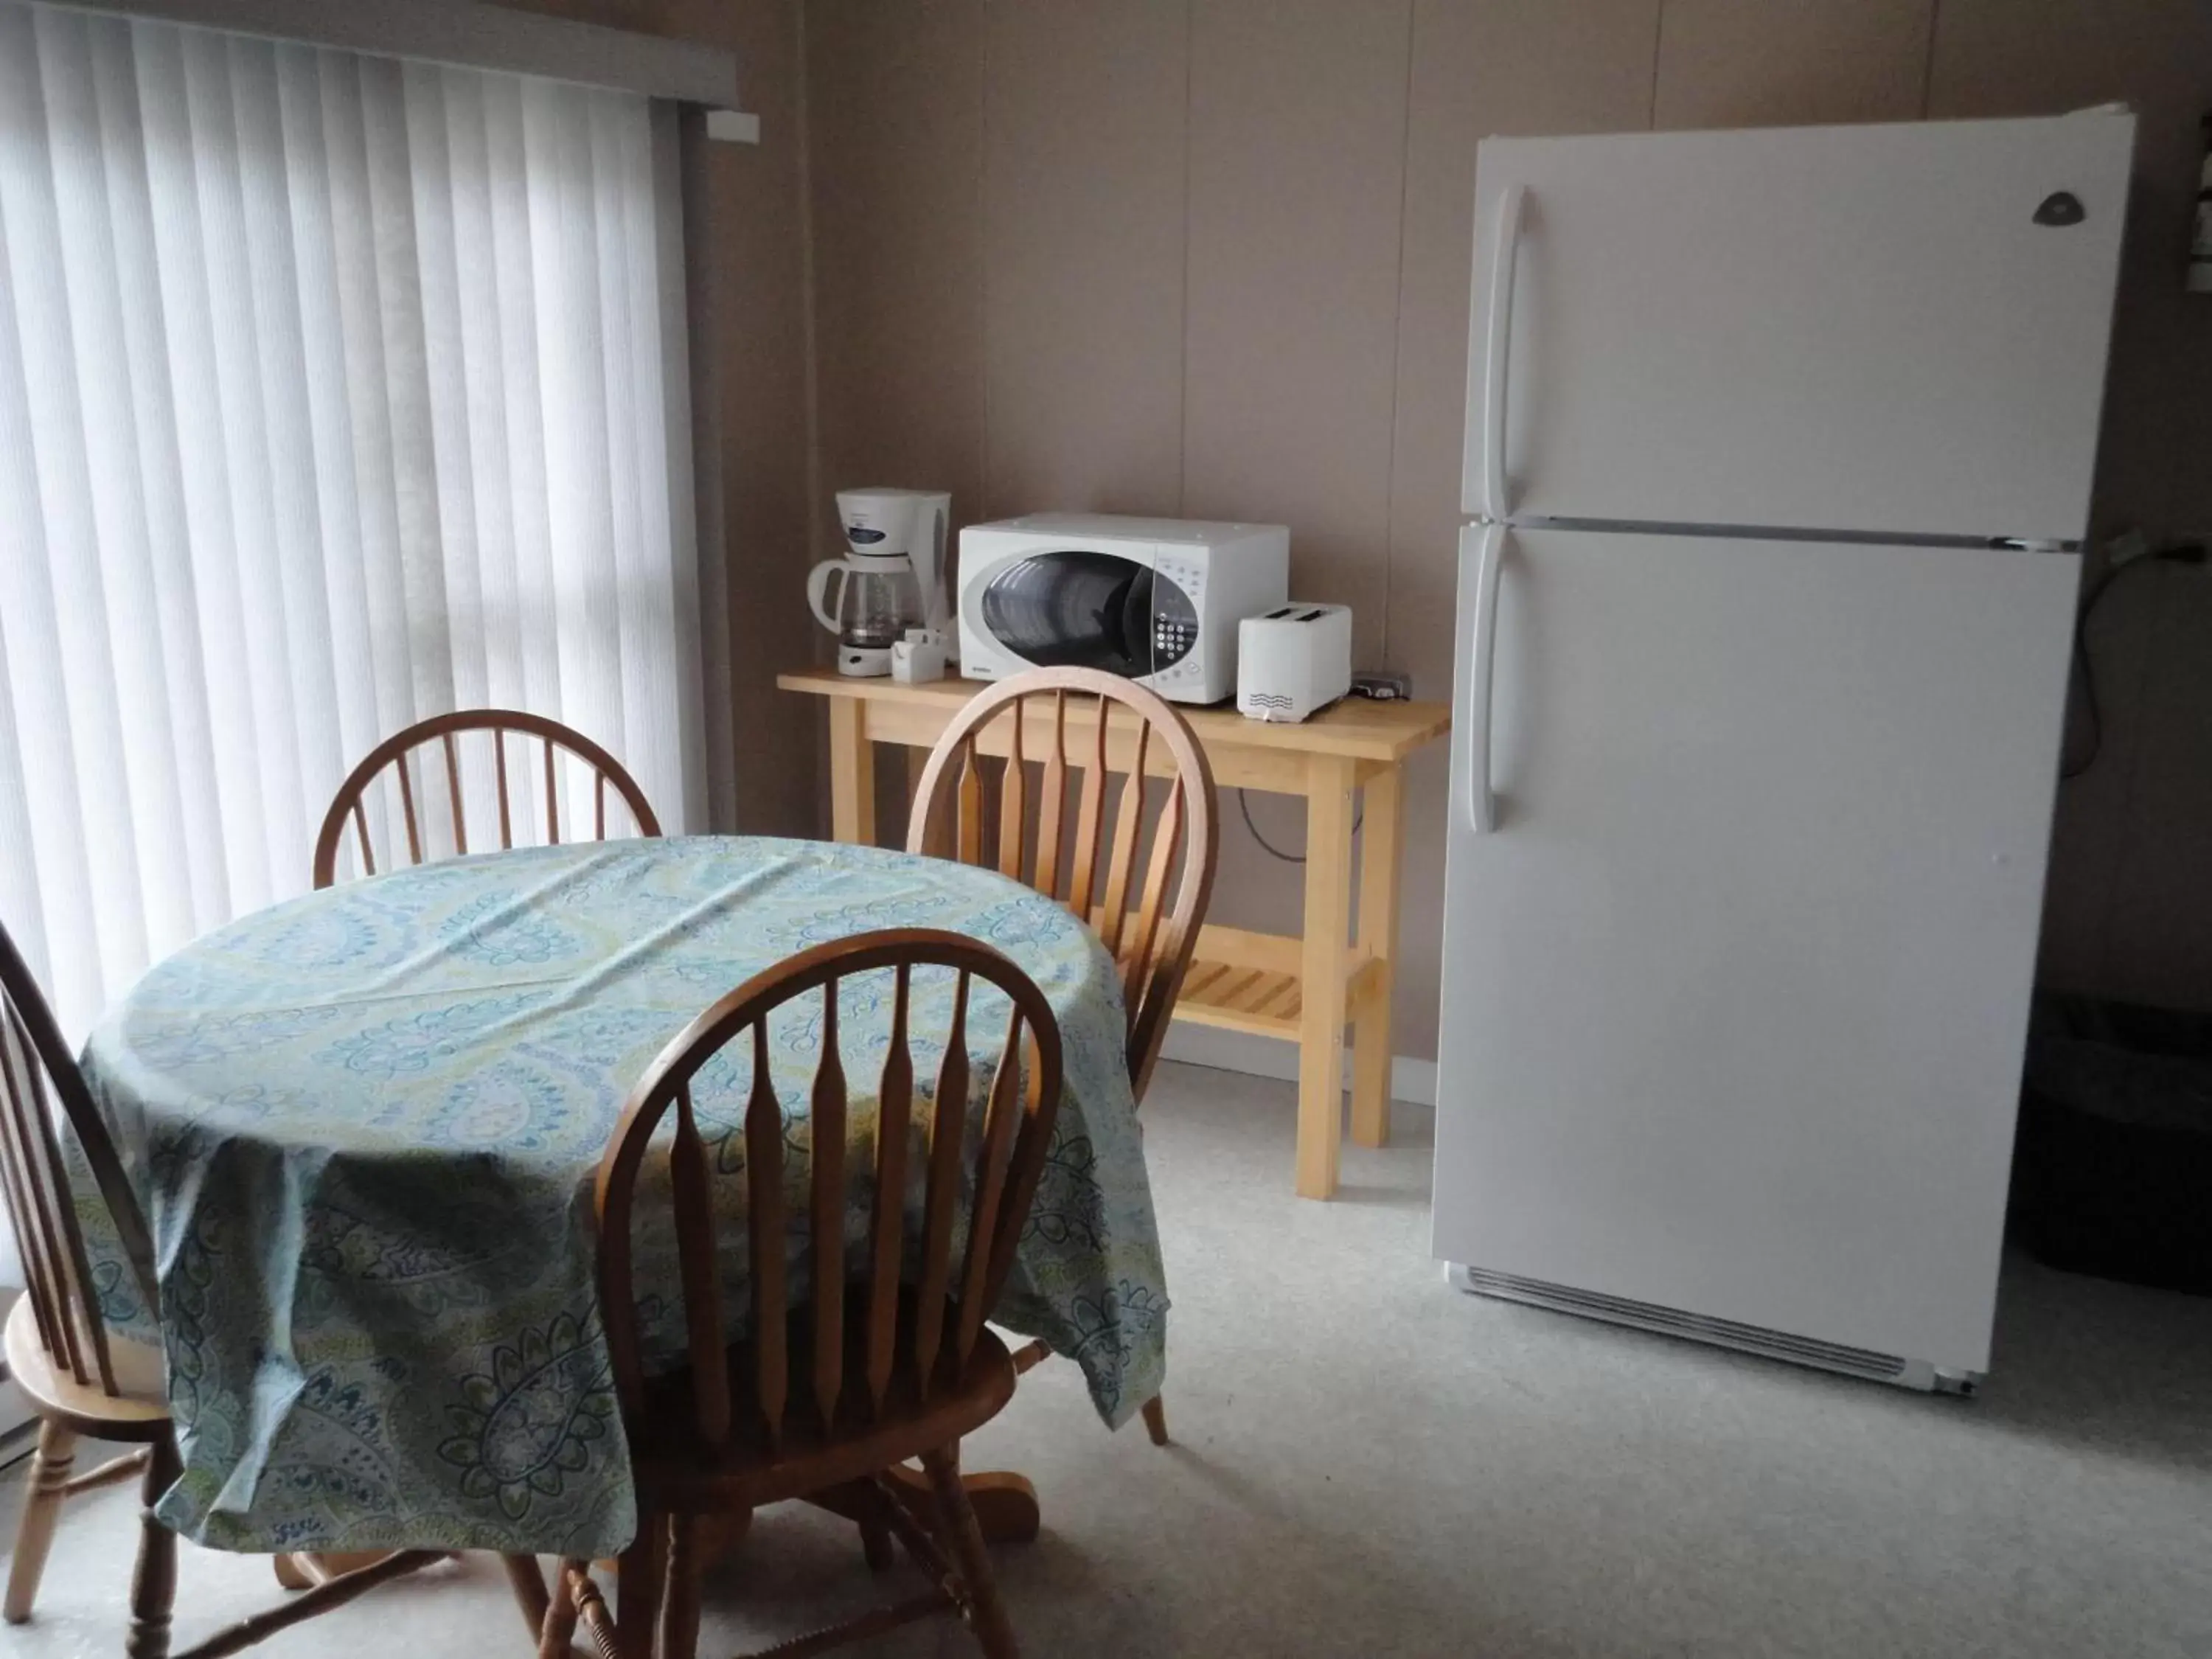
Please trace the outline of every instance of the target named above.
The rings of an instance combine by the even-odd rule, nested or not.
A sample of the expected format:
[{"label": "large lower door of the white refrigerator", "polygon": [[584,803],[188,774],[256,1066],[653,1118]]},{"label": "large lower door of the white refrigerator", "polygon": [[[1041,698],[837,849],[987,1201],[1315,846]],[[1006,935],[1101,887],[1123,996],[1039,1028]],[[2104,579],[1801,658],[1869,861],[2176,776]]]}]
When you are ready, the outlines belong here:
[{"label": "large lower door of the white refrigerator", "polygon": [[1986,1369],[2077,575],[1504,535],[1489,743],[1453,745],[1495,818],[1455,776],[1438,1256]]}]

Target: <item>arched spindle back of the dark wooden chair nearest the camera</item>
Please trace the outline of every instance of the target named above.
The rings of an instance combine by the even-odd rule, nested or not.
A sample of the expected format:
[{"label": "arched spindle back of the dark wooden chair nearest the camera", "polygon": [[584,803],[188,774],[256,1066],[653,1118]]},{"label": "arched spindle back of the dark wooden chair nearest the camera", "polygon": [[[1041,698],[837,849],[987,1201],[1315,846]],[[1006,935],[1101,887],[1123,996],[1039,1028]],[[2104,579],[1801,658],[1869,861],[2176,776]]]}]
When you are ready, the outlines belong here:
[{"label": "arched spindle back of the dark wooden chair nearest the camera", "polygon": [[[945,1057],[927,1113],[922,1239],[902,1274],[909,1135],[916,1128],[911,1004],[918,969],[953,975]],[[865,1267],[847,1283],[849,1099],[838,1051],[838,987],[856,973],[891,973],[891,1037],[876,1079],[874,1168],[867,1170]],[[969,1139],[969,1004],[978,982],[1011,1004],[984,1091],[973,1203],[956,1239]],[[821,1046],[807,1093],[812,1170],[803,1203],[812,1287],[790,1298],[785,1250],[794,1217],[785,1203],[783,1102],[770,1064],[768,1020],[821,998]],[[737,1347],[723,1318],[712,1201],[712,1155],[699,1133],[692,1082],[723,1048],[750,1055],[752,1082],[741,1126],[750,1332]],[[1024,1066],[1026,1057],[1026,1066]],[[1026,1077],[1026,1088],[1024,1088]],[[599,1307],[624,1418],[646,1409],[639,1356],[633,1228],[637,1181],[655,1135],[672,1117],[668,1186],[684,1287],[686,1347],[697,1438],[717,1455],[734,1442],[774,1455],[801,1405],[823,1438],[878,1422],[902,1378],[927,1402],[956,1387],[975,1352],[1029,1219],[1060,1108],[1060,1026],[1044,993],[998,951],[936,929],[887,929],[832,940],[768,969],[701,1013],[653,1062],[624,1106],[599,1161]],[[732,1389],[732,1356],[752,1367]],[[732,1420],[732,1400],[757,1413]]]}]

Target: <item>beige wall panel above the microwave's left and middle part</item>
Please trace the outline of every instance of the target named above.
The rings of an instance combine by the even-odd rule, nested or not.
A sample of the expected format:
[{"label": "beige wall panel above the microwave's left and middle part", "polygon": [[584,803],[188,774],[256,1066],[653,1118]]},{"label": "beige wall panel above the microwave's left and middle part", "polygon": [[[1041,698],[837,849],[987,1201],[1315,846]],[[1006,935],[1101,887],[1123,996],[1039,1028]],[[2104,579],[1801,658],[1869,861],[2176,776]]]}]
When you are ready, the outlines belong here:
[{"label": "beige wall panel above the microwave's left and middle part", "polygon": [[1181,507],[1188,46],[1183,0],[991,9],[991,518]]}]

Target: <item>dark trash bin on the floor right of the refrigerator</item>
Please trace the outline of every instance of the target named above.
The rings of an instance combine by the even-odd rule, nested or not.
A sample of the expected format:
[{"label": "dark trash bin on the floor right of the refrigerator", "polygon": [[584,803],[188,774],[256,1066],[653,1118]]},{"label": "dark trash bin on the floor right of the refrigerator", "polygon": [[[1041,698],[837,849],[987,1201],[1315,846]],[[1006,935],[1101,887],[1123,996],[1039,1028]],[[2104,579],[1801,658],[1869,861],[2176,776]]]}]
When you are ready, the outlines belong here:
[{"label": "dark trash bin on the floor right of the refrigerator", "polygon": [[2013,1237],[2053,1267],[2212,1294],[2212,1013],[2035,1000]]}]

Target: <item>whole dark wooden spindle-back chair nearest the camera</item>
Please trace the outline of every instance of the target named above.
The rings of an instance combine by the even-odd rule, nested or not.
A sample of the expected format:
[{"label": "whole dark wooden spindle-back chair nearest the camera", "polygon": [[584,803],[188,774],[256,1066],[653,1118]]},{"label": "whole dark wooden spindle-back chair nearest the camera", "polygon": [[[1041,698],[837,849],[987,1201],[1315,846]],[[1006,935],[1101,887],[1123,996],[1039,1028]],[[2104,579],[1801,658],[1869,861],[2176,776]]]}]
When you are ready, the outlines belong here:
[{"label": "whole dark wooden spindle-back chair nearest the camera", "polygon": [[[916,1110],[909,1002],[922,969],[949,969],[953,1006],[933,1104]],[[876,1088],[865,1276],[814,1274],[790,1296],[783,1106],[770,1077],[768,1020],[821,998],[821,1060],[810,1091],[814,1146],[807,1259],[847,1259],[847,1099],[838,1057],[838,984],[891,973],[891,1040]],[[971,1221],[956,1239],[969,1141],[969,1002],[978,982],[1011,1006],[984,1088]],[[745,1102],[745,1237],[750,1327],[723,1325],[708,1152],[692,1117],[692,1077],[723,1048],[752,1057]],[[1026,1051],[1026,1088],[1022,1060]],[[770,1648],[779,1659],[823,1652],[931,1613],[958,1610],[991,1659],[1015,1652],[982,1533],[960,1484],[960,1438],[1013,1398],[1013,1356],[984,1325],[1013,1267],[1015,1241],[1044,1168],[1060,1106],[1060,1026],[1037,987],[998,951],[958,933],[891,929],[832,940],[754,975],[670,1042],[630,1093],[599,1159],[599,1310],[637,1475],[637,1542],[617,1564],[617,1608],[591,1564],[560,1564],[540,1655],[568,1655],[582,1619],[608,1659],[692,1659],[699,1637],[701,1528],[723,1515],[805,1498],[856,1520],[869,1562],[889,1564],[896,1537],[931,1590],[834,1630]],[[675,1117],[666,1152],[648,1150]],[[909,1137],[922,1141],[909,1146]],[[630,1225],[639,1168],[666,1157],[681,1263],[688,1365],[646,1376],[639,1360]],[[900,1274],[907,1194],[922,1188],[922,1245]],[[920,1458],[931,1500],[889,1480]],[[529,1564],[535,1573],[535,1564]],[[659,1641],[659,1646],[655,1646]]]}]

